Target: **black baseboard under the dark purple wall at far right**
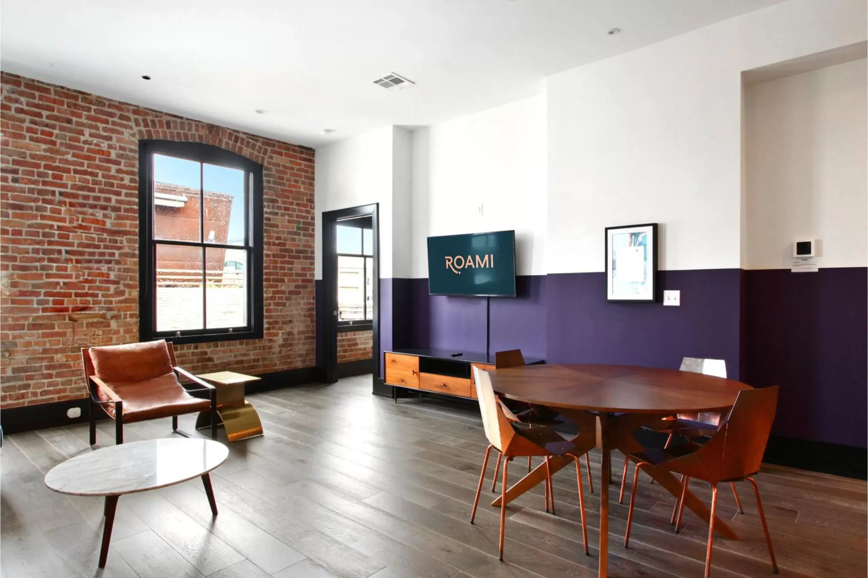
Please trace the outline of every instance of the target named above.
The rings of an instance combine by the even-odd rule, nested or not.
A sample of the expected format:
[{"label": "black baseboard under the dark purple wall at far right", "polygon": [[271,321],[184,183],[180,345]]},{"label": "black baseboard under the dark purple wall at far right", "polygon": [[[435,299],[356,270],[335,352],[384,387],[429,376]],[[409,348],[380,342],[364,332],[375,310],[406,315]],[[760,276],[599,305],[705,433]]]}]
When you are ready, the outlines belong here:
[{"label": "black baseboard under the dark purple wall at far right", "polygon": [[772,436],[763,461],[835,476],[868,479],[868,450],[850,445]]}]

